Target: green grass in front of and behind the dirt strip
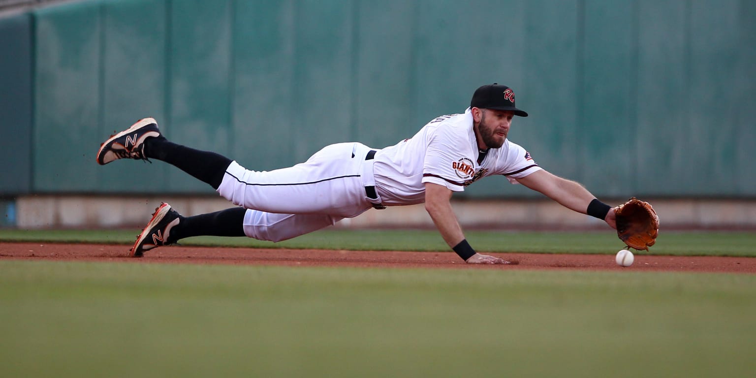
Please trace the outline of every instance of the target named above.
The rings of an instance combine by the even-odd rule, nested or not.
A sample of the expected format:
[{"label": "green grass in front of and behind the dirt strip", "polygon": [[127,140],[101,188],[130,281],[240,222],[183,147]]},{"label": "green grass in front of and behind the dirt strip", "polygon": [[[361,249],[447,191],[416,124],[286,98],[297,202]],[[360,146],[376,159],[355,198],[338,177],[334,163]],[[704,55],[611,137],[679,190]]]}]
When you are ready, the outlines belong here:
[{"label": "green grass in front of and behind the dirt strip", "polygon": [[[13,233],[0,240],[134,236]],[[492,251],[613,253],[607,234],[468,237]],[[584,247],[560,249],[575,240]],[[431,231],[328,231],[276,246],[438,243]],[[668,233],[654,252],[754,256],[754,245],[748,233]],[[751,274],[0,260],[2,376],[751,376],[754,318]]]}]

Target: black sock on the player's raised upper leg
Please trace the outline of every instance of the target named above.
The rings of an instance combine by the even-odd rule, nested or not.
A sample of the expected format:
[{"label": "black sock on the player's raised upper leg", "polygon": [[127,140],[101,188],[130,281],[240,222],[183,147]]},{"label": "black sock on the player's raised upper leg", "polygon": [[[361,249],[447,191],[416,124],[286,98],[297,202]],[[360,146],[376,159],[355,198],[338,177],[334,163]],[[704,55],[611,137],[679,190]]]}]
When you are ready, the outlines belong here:
[{"label": "black sock on the player's raised upper leg", "polygon": [[176,166],[210,184],[213,189],[221,186],[226,168],[231,164],[226,156],[175,144],[163,136],[147,138],[144,141],[144,155]]}]

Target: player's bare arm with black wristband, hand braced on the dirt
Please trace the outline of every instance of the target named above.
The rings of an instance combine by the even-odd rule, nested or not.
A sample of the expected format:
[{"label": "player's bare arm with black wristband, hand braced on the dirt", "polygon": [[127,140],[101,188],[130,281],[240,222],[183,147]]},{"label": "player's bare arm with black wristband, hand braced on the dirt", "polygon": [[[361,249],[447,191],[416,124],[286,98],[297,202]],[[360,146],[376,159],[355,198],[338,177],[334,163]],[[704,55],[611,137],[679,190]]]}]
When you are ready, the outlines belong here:
[{"label": "player's bare arm with black wristband, hand braced on the dirt", "polygon": [[438,228],[438,232],[444,238],[444,241],[454,249],[465,262],[469,264],[507,264],[504,259],[499,259],[494,256],[481,255],[476,253],[474,249],[465,240],[465,235],[460,227],[460,222],[457,220],[457,215],[454,214],[454,209],[451,208],[451,190],[448,187],[426,183],[426,211],[433,219],[435,227]]}]

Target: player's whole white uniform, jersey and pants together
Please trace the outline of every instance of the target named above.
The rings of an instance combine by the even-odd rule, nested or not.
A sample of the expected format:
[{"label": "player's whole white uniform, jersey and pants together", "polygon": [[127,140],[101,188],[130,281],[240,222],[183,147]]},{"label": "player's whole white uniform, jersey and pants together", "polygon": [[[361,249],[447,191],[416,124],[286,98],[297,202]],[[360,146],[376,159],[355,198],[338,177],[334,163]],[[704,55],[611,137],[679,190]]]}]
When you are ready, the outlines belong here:
[{"label": "player's whole white uniform, jersey and pants together", "polygon": [[[426,182],[463,191],[485,176],[504,175],[516,183],[541,169],[508,140],[481,153],[469,108],[433,119],[414,137],[377,150],[374,157],[370,150],[360,143],[331,144],[305,163],[270,172],[233,162],[218,194],[248,209],[247,236],[279,241],[360,215],[376,203],[423,203]],[[371,197],[366,187],[374,189]]]}]

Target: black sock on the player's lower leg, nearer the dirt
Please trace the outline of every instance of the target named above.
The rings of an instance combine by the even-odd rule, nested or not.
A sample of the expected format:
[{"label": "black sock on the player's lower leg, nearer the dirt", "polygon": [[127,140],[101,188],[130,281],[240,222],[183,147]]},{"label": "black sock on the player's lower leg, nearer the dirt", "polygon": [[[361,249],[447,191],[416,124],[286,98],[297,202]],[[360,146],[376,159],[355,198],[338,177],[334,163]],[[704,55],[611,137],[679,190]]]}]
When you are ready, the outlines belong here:
[{"label": "black sock on the player's lower leg, nearer the dirt", "polygon": [[181,217],[178,225],[171,229],[171,243],[193,236],[246,236],[245,212],[246,209],[243,207],[232,207],[218,212]]}]

